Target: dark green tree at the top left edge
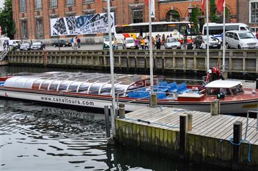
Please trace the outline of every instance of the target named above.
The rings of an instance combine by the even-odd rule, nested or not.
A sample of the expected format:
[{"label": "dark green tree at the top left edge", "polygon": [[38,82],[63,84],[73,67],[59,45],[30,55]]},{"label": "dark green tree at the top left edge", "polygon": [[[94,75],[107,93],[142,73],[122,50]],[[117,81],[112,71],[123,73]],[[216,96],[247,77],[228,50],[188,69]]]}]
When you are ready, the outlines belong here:
[{"label": "dark green tree at the top left edge", "polygon": [[16,30],[15,23],[12,20],[12,0],[6,0],[3,5],[3,9],[0,10],[0,26],[2,34],[6,34],[10,39],[13,39]]}]

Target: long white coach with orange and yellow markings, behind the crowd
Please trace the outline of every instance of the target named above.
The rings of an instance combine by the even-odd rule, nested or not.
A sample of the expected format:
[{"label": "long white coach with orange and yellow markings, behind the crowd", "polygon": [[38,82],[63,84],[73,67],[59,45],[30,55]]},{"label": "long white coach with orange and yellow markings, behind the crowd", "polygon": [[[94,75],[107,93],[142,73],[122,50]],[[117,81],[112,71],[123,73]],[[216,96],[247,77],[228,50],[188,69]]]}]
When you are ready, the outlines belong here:
[{"label": "long white coach with orange and yellow markings, behind the crowd", "polygon": [[[199,34],[199,25],[190,22],[152,22],[152,36],[155,37],[158,34],[162,36],[172,35],[182,40],[184,34],[188,38],[188,42],[191,38],[195,38]],[[192,27],[192,28],[191,28]],[[132,23],[129,25],[116,25],[114,35],[118,40],[118,43],[122,43],[123,38],[133,37],[136,39],[138,36],[149,36],[149,23]]]}]

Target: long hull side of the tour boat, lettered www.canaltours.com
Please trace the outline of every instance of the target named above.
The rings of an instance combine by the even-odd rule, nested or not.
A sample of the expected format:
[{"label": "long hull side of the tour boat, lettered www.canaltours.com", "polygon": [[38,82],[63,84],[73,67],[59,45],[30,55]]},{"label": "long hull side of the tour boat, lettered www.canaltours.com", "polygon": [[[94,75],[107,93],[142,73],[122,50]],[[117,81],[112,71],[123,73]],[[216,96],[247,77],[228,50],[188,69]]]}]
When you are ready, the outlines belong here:
[{"label": "long hull side of the tour boat, lettered www.canaltours.com", "polygon": [[[91,107],[96,109],[103,109],[104,106],[111,106],[110,98],[82,98],[76,96],[67,95],[52,95],[52,94],[42,94],[42,93],[31,93],[31,92],[21,92],[21,91],[8,91],[1,90],[0,96],[6,98],[17,98],[21,100],[32,100],[37,102],[50,102],[53,104],[63,104],[63,105],[73,105],[82,107]],[[148,102],[130,102],[125,104],[126,111],[136,111],[148,106]],[[189,111],[203,111],[210,112],[211,104],[209,102],[189,102],[181,103],[177,101],[171,102],[158,102],[159,106],[171,106],[178,109],[185,109]],[[257,111],[258,110],[257,101],[243,101],[243,102],[221,102],[220,113],[223,114],[237,114],[246,113],[247,111]]]}]

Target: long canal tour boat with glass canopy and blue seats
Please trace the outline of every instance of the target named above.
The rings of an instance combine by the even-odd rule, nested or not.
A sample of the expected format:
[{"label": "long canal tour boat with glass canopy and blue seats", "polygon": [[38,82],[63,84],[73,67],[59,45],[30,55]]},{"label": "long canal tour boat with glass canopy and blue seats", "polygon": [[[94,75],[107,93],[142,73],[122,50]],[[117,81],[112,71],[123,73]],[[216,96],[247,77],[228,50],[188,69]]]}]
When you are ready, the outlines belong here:
[{"label": "long canal tour boat with glass canopy and blue seats", "polygon": [[[126,111],[149,106],[150,78],[144,75],[115,74],[116,102]],[[111,105],[111,76],[107,73],[47,72],[0,78],[0,96],[52,104],[103,109]],[[257,111],[258,89],[242,88],[241,82],[175,80],[154,76],[153,93],[158,106],[193,111],[211,111],[211,102],[220,100],[220,113]],[[202,90],[200,90],[202,89]]]}]

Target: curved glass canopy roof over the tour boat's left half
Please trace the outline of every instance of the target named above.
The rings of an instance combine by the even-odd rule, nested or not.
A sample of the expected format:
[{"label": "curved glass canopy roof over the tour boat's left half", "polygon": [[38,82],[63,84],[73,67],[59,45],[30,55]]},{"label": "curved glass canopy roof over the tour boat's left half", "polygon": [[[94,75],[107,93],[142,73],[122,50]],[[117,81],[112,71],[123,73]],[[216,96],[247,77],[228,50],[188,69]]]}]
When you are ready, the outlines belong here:
[{"label": "curved glass canopy roof over the tour boat's left half", "polygon": [[[148,86],[149,76],[115,74],[115,93]],[[111,75],[108,73],[47,72],[12,76],[4,87],[67,93],[111,95]]]}]

